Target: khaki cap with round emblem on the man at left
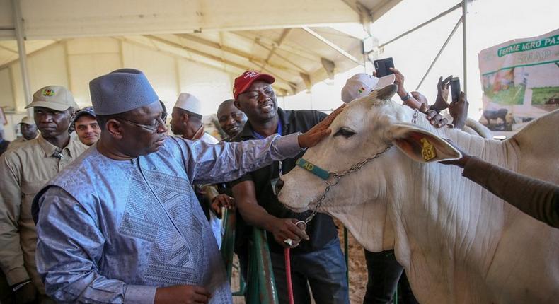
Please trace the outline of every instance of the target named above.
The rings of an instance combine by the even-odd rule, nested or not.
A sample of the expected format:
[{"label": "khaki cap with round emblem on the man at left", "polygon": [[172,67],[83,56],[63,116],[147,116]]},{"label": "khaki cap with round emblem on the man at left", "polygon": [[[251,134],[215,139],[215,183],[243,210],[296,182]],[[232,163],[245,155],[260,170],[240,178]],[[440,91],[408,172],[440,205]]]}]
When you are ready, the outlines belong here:
[{"label": "khaki cap with round emblem on the man at left", "polygon": [[33,94],[33,102],[25,109],[30,107],[47,107],[55,111],[65,111],[69,107],[78,109],[74,101],[74,96],[63,86],[45,86]]}]

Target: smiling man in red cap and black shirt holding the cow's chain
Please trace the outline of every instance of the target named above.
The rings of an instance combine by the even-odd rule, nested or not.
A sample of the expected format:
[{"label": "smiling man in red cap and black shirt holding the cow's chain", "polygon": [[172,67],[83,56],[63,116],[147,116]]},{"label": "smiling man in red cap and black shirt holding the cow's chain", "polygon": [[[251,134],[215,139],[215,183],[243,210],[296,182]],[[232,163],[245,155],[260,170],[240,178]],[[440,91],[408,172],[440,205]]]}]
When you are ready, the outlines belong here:
[{"label": "smiling man in red cap and black shirt holding the cow's chain", "polygon": [[[246,114],[248,122],[231,141],[305,132],[326,117],[314,110],[284,111],[278,108],[271,86],[274,81],[274,77],[256,71],[246,71],[235,79],[234,104]],[[284,247],[288,247],[284,240],[287,239],[292,240],[295,303],[311,303],[307,284],[316,303],[350,303],[344,257],[333,219],[326,214],[317,214],[306,230],[301,229],[295,223],[303,221],[311,211],[303,214],[289,211],[274,193],[280,175],[292,170],[303,153],[247,173],[233,182],[238,210],[248,224],[269,233],[267,240],[280,303],[288,303],[284,266]]]}]

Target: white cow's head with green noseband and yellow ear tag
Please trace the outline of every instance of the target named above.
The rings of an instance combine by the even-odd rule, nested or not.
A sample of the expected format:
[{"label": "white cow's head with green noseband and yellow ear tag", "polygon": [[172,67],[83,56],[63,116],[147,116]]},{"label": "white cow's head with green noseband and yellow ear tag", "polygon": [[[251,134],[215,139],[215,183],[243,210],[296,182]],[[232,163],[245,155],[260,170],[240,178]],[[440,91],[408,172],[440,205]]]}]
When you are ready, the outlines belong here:
[{"label": "white cow's head with green noseband and yellow ear tag", "polygon": [[[337,185],[330,187],[318,208],[318,211],[339,218],[356,237],[368,235],[376,239],[374,244],[367,245],[365,240],[358,238],[364,247],[375,251],[393,245],[386,201],[391,192],[401,186],[398,183],[408,178],[398,177],[406,172],[403,170],[405,163],[427,163],[461,156],[444,139],[418,127],[430,127],[425,115],[414,114],[410,108],[390,100],[396,90],[397,86],[391,85],[353,100],[331,124],[330,136],[318,146],[309,148],[303,156],[318,168],[343,173],[391,146],[362,169],[341,177]],[[412,124],[414,115],[418,125]],[[327,187],[321,177],[300,167],[283,175],[282,180],[284,186],[279,199],[289,209],[298,212],[315,208],[316,201]],[[328,182],[333,182],[332,176]],[[355,221],[355,216],[362,220]]]}]

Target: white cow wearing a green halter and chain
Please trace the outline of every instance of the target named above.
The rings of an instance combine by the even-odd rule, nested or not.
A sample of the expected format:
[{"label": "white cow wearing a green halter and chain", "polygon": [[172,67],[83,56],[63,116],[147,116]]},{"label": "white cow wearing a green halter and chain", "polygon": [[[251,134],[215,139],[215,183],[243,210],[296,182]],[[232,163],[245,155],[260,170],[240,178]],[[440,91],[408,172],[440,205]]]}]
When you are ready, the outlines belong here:
[{"label": "white cow wearing a green halter and chain", "polygon": [[[461,177],[461,168],[437,163],[460,157],[441,139],[448,138],[474,156],[557,184],[559,111],[494,141],[434,129],[424,115],[391,102],[395,92],[389,86],[352,101],[332,134],[305,153],[309,163],[342,173],[393,145],[341,177],[318,211],[340,219],[367,250],[393,248],[421,303],[559,303],[559,229]],[[426,162],[430,144],[436,156]],[[280,201],[294,211],[314,209],[326,188],[299,167],[282,180]]]}]

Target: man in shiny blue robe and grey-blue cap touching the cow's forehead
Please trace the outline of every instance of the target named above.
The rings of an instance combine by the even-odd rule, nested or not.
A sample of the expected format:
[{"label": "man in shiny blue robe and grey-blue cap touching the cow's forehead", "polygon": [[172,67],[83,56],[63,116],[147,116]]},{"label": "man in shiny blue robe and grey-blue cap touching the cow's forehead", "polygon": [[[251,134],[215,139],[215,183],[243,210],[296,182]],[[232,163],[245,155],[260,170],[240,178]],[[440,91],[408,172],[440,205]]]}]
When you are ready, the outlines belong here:
[{"label": "man in shiny blue robe and grey-blue cap touching the cow's forehead", "polygon": [[190,185],[233,180],[314,146],[340,111],[305,134],[210,145],[167,136],[141,71],[119,69],[89,88],[100,139],[33,201],[47,293],[64,303],[232,303]]}]

